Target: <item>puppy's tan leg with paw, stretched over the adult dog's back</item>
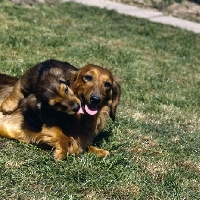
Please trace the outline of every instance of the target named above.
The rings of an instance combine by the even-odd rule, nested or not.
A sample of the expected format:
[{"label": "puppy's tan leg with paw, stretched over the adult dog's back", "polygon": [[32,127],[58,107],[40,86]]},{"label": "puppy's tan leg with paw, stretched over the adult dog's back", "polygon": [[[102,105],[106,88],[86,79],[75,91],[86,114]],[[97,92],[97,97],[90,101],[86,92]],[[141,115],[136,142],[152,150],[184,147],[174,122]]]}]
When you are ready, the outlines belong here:
[{"label": "puppy's tan leg with paw, stretched over the adult dog's back", "polygon": [[13,87],[11,94],[1,104],[0,110],[3,114],[11,114],[17,109],[19,101],[24,98],[21,86],[21,80],[18,80]]}]

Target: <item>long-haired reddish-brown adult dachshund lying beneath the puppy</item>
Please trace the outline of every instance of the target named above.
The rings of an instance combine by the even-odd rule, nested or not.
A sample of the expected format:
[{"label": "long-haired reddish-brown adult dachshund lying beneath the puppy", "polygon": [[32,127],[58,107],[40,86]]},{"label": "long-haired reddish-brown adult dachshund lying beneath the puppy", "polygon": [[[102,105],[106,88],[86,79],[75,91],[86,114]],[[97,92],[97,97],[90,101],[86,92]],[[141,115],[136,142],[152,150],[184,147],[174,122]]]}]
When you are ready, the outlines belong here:
[{"label": "long-haired reddish-brown adult dachshund lying beneath the puppy", "polygon": [[[53,64],[67,68],[66,63],[56,60],[48,60],[39,65],[44,63],[46,66]],[[10,94],[13,94],[20,79],[0,75],[0,80],[0,103],[2,103]],[[57,160],[63,160],[67,154],[82,153],[86,149],[98,156],[108,156],[108,151],[98,149],[91,144],[94,137],[103,129],[106,119],[109,116],[115,119],[121,93],[120,79],[107,69],[87,65],[80,70],[76,68],[67,70],[65,81],[69,82],[70,88],[81,102],[77,113],[70,115],[67,112],[61,112],[40,99],[39,115],[42,128],[35,130],[31,128],[35,126],[35,123],[30,124],[32,114],[28,117],[24,115],[24,111],[25,113],[29,113],[29,110],[34,111],[38,103],[37,95],[30,94],[20,101],[18,109],[10,115],[0,113],[0,136],[26,143],[48,144],[55,149],[54,158]],[[46,90],[48,90],[48,85]],[[35,121],[34,117],[33,121]]]}]

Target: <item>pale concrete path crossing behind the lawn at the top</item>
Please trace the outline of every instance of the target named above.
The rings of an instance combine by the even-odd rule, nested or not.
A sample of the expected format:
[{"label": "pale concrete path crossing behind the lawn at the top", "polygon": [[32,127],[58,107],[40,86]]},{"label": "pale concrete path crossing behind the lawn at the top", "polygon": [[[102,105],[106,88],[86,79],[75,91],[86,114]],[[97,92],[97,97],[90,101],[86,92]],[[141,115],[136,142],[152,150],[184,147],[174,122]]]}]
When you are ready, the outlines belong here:
[{"label": "pale concrete path crossing behind the lawn at the top", "polygon": [[180,27],[194,33],[200,33],[200,23],[187,21],[184,19],[163,15],[161,12],[146,10],[136,6],[129,6],[121,3],[116,3],[107,0],[63,0],[63,2],[74,1],[85,4],[87,6],[97,6],[108,10],[116,10],[118,13],[145,18],[152,22],[168,24],[171,26]]}]

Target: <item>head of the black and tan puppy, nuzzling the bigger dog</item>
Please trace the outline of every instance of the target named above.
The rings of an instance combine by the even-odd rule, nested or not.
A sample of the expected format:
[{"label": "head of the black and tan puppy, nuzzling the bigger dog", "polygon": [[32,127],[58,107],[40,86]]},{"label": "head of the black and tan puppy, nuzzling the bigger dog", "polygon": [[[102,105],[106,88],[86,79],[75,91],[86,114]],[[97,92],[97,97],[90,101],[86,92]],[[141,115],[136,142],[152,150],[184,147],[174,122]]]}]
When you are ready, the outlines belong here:
[{"label": "head of the black and tan puppy, nuzzling the bigger dog", "polygon": [[37,98],[57,111],[74,114],[79,111],[81,102],[68,87],[63,78],[47,76],[37,87]]}]

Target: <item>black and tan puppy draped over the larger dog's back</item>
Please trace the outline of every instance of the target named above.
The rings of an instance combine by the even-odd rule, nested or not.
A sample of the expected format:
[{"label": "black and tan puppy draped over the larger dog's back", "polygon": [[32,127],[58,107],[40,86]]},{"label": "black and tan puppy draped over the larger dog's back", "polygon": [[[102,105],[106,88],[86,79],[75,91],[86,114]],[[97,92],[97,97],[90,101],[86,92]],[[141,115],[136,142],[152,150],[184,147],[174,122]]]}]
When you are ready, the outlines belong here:
[{"label": "black and tan puppy draped over the larger dog's back", "polygon": [[[35,65],[15,83],[12,92],[3,101],[1,111],[10,114],[17,109],[20,100],[35,94],[38,103],[46,102],[58,111],[77,112],[80,101],[74,99],[68,87],[73,78],[72,71],[76,68],[67,62],[47,60]],[[70,95],[73,97],[70,98]]]}]

